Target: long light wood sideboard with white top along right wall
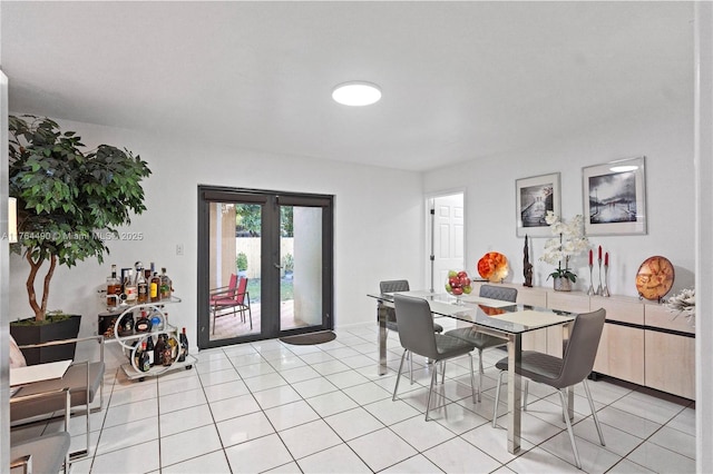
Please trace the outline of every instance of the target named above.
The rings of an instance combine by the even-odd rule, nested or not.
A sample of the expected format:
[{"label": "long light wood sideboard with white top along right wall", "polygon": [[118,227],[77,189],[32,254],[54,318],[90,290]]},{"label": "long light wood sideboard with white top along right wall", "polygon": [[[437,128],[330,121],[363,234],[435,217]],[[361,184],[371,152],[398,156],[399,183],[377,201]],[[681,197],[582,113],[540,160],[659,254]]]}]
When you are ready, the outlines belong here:
[{"label": "long light wood sideboard with white top along right wall", "polygon": [[[473,293],[481,283],[477,283]],[[586,313],[606,309],[594,372],[695,399],[695,329],[656,302],[629,296],[588,296],[544,287],[518,289],[517,303]],[[561,330],[540,329],[522,338],[522,348],[561,356]]]}]

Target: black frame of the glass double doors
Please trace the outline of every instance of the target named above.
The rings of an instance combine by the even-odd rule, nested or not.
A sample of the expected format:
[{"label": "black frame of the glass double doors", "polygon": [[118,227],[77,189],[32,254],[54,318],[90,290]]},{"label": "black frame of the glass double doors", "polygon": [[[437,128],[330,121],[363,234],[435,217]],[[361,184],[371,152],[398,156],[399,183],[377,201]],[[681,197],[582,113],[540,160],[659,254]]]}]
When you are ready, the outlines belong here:
[{"label": "black frame of the glass double doors", "polygon": [[[211,340],[209,267],[211,267],[211,203],[243,203],[264,205],[262,213],[261,288],[263,295],[277,295],[261,300],[258,332],[244,336]],[[281,203],[282,201],[282,203]],[[322,217],[322,324],[307,327],[280,329],[280,205],[313,206],[324,209]],[[197,283],[196,335],[198,348],[222,347],[232,344],[271,339],[334,328],[334,196],[310,192],[274,191],[266,189],[232,188],[198,185],[197,192]]]}]

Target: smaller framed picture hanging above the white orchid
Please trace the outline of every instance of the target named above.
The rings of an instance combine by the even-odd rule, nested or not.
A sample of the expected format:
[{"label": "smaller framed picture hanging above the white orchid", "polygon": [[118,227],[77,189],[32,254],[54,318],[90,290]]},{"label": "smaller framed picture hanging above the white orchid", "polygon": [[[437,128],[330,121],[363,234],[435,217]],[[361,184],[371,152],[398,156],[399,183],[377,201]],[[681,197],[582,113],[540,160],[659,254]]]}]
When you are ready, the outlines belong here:
[{"label": "smaller framed picture hanging above the white orchid", "polygon": [[518,237],[549,237],[547,211],[560,215],[559,172],[533,176],[515,181]]}]

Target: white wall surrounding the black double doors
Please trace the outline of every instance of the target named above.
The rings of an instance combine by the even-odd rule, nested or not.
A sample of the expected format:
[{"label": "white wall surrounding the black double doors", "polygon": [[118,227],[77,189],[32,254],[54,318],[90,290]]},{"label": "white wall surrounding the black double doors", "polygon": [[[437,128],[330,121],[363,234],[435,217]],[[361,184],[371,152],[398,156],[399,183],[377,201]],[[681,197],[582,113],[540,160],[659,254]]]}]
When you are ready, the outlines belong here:
[{"label": "white wall surrounding the black double doors", "polygon": [[[167,267],[183,304],[169,309],[177,326],[186,326],[196,345],[197,185],[218,185],[335,195],[334,322],[345,326],[375,322],[375,303],[368,293],[379,280],[404,277],[422,284],[421,176],[416,172],[364,167],[297,156],[275,156],[237,150],[187,139],[160,139],[128,130],[87,124],[61,122],[77,130],[88,146],[107,142],[126,147],[148,161],[153,175],[145,181],[146,206],[133,217],[129,229],[143,240],[110,244],[104,265],[94,260],[56,270],[49,308],[85,315],[81,334],[97,330],[102,310],[96,290],[104,286],[110,265],[136,260]],[[176,245],[185,249],[176,255]],[[10,314],[31,314],[25,280],[27,263],[12,255]],[[40,290],[41,278],[38,279]]]}]

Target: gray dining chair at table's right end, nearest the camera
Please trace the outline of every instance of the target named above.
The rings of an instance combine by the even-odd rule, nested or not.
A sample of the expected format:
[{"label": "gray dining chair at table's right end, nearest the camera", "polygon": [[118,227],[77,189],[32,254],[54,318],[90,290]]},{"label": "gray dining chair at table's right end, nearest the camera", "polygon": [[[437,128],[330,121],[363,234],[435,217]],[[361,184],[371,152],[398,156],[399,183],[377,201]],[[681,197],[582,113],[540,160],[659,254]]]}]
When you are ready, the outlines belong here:
[{"label": "gray dining chair at table's right end, nearest the camera", "polygon": [[[567,406],[566,389],[582,382],[584,391],[587,394],[587,399],[589,401],[589,409],[592,409],[592,417],[594,418],[594,424],[599,435],[599,442],[602,446],[605,446],[604,435],[602,434],[597,412],[594,407],[589,385],[587,384],[587,376],[592,373],[594,361],[597,356],[597,348],[599,347],[605,318],[606,310],[603,308],[578,315],[573,323],[572,334],[569,342],[565,346],[564,357],[559,358],[536,350],[525,350],[522,352],[519,367],[516,367],[516,372],[521,376],[533,382],[549,385],[559,393],[563,416],[567,424],[569,442],[572,443],[572,451],[574,452],[575,463],[578,468],[582,468],[582,462],[579,461],[579,453],[577,452],[577,444],[575,443],[575,435],[568,416],[569,407]],[[508,358],[501,358],[495,366],[500,369],[500,376],[498,377],[498,386],[495,392],[492,426],[496,424],[500,385],[502,384],[502,374],[508,369]],[[527,394],[527,385],[525,385],[525,393]],[[524,402],[525,406],[527,406],[527,395],[525,395]]]}]

